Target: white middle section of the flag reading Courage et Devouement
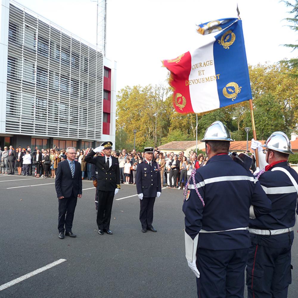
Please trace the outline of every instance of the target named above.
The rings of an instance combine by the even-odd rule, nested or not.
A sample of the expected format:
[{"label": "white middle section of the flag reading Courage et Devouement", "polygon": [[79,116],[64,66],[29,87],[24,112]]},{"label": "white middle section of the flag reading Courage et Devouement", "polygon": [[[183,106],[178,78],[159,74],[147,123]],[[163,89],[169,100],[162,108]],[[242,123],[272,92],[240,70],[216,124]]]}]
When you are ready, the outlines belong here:
[{"label": "white middle section of the flag reading Courage et Devouement", "polygon": [[[190,52],[191,55],[191,65],[196,65],[198,63],[203,63],[207,61],[212,61],[213,65],[206,67],[197,67],[191,69],[189,75],[189,91],[190,99],[193,107],[194,113],[201,113],[205,111],[210,111],[219,108],[219,97],[217,91],[217,83],[214,80],[215,65],[213,56],[213,44],[215,42],[214,36],[204,35],[204,38],[200,38],[199,47],[194,51]],[[201,71],[199,75],[198,71]],[[204,71],[204,74],[203,72]],[[212,81],[202,82],[204,78],[212,77]],[[201,80],[201,83],[199,83]]]}]

